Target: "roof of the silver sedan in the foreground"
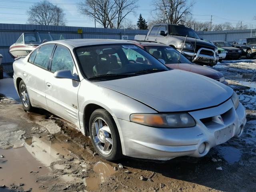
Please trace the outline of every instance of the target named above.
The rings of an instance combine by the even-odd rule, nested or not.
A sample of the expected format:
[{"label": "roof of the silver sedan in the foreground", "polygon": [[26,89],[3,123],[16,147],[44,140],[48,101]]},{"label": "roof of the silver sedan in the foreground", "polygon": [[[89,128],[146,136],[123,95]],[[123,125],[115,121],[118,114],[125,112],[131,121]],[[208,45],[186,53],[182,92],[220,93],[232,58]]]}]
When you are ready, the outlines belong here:
[{"label": "roof of the silver sedan in the foreground", "polygon": [[65,46],[73,46],[73,47],[103,45],[103,44],[132,44],[130,42],[127,42],[126,40],[114,40],[114,39],[66,39],[66,40],[49,41],[47,43],[58,43]]}]

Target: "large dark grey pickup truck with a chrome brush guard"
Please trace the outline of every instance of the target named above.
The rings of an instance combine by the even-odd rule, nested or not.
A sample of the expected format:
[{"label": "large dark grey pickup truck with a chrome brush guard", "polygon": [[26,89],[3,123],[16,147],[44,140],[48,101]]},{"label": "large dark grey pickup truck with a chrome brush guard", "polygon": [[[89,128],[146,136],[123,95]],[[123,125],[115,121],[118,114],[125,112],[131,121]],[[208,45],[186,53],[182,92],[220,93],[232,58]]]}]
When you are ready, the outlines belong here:
[{"label": "large dark grey pickup truck with a chrome brush guard", "polygon": [[154,24],[146,36],[136,35],[134,40],[158,42],[172,46],[197,64],[214,66],[218,62],[218,48],[214,44],[200,39],[193,29],[185,26]]}]

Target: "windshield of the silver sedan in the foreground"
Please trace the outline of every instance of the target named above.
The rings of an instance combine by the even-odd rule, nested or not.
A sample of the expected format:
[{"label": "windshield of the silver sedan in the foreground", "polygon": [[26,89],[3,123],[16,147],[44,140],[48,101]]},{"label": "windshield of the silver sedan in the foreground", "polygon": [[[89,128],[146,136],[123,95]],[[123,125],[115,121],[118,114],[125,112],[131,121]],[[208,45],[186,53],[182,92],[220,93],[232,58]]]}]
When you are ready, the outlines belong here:
[{"label": "windshield of the silver sedan in the foreground", "polygon": [[80,70],[88,78],[124,78],[169,70],[148,52],[132,44],[84,46],[75,49]]}]

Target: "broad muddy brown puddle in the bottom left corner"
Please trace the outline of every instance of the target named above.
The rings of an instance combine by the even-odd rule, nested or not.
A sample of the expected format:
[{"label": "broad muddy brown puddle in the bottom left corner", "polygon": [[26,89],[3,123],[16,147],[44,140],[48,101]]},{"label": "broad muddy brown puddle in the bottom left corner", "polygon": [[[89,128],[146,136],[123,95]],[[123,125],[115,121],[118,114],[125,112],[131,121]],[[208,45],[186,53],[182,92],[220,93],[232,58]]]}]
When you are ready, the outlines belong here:
[{"label": "broad muddy brown puddle in the bottom left corner", "polygon": [[[0,169],[0,186],[10,187],[11,184],[23,183],[24,190],[32,188],[33,191],[44,191],[39,189],[36,178],[48,173],[49,170],[40,161],[32,158],[25,147],[0,149],[0,154],[4,155],[0,162],[0,167],[2,167]],[[42,168],[38,168],[38,166]],[[33,172],[30,173],[30,171]]]}]

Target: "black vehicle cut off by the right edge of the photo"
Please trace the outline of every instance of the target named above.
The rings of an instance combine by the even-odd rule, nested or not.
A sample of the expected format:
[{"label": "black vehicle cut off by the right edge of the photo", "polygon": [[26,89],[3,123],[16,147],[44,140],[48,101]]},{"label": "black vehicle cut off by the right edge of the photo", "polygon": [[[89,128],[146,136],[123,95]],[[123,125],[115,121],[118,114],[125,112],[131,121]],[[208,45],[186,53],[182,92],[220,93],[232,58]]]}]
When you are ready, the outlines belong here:
[{"label": "black vehicle cut off by the right edge of the photo", "polygon": [[252,59],[256,55],[256,38],[241,38],[233,42],[233,47],[240,48],[242,56]]}]

